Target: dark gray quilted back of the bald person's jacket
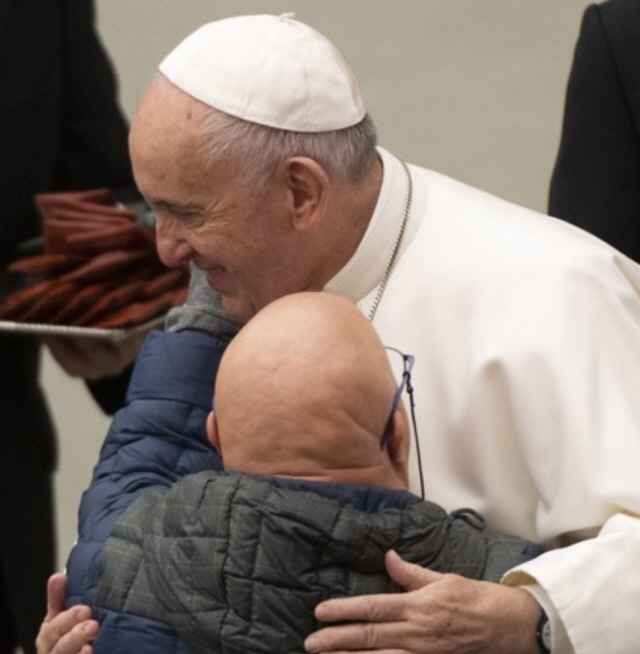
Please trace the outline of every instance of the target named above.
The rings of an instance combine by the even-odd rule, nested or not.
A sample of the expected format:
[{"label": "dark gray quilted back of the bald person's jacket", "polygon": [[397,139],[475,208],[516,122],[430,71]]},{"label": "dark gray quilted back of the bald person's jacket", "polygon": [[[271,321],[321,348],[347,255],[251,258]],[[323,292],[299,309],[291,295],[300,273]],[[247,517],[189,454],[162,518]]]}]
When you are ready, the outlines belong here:
[{"label": "dark gray quilted back of the bald person's jacket", "polygon": [[95,603],[165,623],[197,653],[303,654],[320,601],[400,590],[389,549],[488,580],[540,552],[410,493],[202,472],[119,520]]}]

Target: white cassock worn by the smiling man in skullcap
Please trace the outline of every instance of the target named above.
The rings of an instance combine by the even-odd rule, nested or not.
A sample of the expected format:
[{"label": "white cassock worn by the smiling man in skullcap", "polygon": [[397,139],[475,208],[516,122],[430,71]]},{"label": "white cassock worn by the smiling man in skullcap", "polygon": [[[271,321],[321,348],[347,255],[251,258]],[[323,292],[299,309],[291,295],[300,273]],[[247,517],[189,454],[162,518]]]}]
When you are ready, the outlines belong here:
[{"label": "white cassock worn by the smiling man in skullcap", "polygon": [[[380,155],[371,224],[326,286],[365,313],[407,199],[403,165]],[[640,266],[560,220],[409,169],[408,222],[373,324],[416,358],[427,497],[549,546],[579,541],[505,583],[536,582],[554,654],[637,654]]]}]

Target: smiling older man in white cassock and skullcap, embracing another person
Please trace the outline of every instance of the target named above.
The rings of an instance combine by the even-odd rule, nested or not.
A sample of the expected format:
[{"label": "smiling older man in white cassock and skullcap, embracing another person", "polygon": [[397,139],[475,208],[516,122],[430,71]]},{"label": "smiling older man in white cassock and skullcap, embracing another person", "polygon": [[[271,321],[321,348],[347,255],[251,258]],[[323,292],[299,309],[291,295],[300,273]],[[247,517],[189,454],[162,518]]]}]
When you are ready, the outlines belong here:
[{"label": "smiling older man in white cassock and skullcap, embracing another person", "polygon": [[[350,623],[313,635],[309,651],[637,650],[636,264],[376,149],[346,63],[289,16],[187,37],[160,65],[130,146],[167,264],[192,261],[241,322],[301,290],[357,303],[419,361],[428,497],[562,546],[489,591],[421,571],[403,595],[323,603],[322,621]],[[202,293],[188,308],[200,328]],[[509,586],[536,602],[514,606]]]}]

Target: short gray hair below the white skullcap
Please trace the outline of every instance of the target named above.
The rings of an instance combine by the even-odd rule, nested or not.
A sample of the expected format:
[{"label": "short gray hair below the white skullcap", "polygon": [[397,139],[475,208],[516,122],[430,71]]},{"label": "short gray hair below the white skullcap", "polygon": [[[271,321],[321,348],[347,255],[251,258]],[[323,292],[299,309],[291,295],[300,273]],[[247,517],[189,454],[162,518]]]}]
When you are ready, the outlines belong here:
[{"label": "short gray hair below the white skullcap", "polygon": [[376,159],[376,129],[366,115],[352,127],[292,132],[251,123],[208,107],[201,122],[207,164],[237,166],[246,183],[262,185],[289,157],[309,157],[330,176],[357,185]]}]

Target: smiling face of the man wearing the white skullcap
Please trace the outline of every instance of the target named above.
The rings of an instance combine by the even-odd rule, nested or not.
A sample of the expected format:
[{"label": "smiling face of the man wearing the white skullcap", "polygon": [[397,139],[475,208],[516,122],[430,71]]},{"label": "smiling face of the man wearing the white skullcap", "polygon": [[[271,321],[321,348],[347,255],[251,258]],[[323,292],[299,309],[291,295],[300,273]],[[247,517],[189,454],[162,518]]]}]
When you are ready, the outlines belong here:
[{"label": "smiling face of the man wearing the white skullcap", "polygon": [[193,261],[225,311],[246,321],[276,298],[307,290],[287,191],[277,180],[250,188],[232,170],[207,167],[198,111],[202,105],[174,87],[152,87],[131,128],[136,183],[156,215],[162,261]]}]

